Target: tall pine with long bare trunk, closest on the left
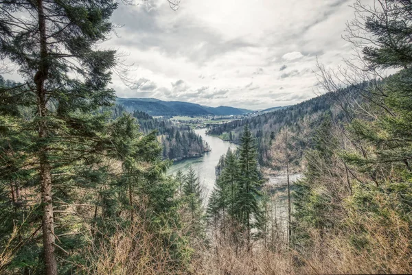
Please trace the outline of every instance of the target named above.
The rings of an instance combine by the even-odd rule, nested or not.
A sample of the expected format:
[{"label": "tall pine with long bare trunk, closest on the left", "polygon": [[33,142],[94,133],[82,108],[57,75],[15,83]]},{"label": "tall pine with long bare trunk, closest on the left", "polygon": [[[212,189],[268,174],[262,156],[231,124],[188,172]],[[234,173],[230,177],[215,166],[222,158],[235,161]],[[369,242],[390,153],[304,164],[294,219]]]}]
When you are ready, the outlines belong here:
[{"label": "tall pine with long bare trunk, closest on the left", "polygon": [[[115,97],[107,88],[115,51],[94,47],[111,32],[109,21],[117,3],[106,1],[11,1],[0,11],[0,54],[19,69],[23,84],[0,91],[3,110],[26,106],[32,120],[23,131],[36,132],[30,148],[38,173],[42,200],[45,274],[58,274],[56,261],[56,210],[54,186],[69,182],[62,167],[80,160],[93,162],[87,154],[102,153],[103,115],[91,116]],[[21,17],[21,12],[30,16]],[[83,164],[81,166],[84,166]],[[66,173],[65,173],[66,172]],[[84,175],[90,174],[84,169]],[[82,174],[82,173],[79,173]]]}]

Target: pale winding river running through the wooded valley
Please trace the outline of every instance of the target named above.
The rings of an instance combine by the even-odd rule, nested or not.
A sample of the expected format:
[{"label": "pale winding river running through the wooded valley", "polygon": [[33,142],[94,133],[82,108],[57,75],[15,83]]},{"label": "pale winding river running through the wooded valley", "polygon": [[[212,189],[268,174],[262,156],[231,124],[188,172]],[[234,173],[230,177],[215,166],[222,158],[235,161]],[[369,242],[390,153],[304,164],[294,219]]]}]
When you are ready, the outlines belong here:
[{"label": "pale winding river running through the wooded valley", "polygon": [[209,144],[211,152],[206,152],[205,155],[200,158],[188,158],[176,161],[168,170],[168,175],[175,174],[178,170],[186,172],[187,169],[192,166],[203,185],[205,195],[207,195],[214,187],[216,180],[215,167],[218,165],[220,156],[226,154],[229,147],[233,150],[237,145],[229,143],[229,141],[222,141],[216,136],[207,135],[206,129],[196,129],[194,132],[202,136],[202,139]]}]

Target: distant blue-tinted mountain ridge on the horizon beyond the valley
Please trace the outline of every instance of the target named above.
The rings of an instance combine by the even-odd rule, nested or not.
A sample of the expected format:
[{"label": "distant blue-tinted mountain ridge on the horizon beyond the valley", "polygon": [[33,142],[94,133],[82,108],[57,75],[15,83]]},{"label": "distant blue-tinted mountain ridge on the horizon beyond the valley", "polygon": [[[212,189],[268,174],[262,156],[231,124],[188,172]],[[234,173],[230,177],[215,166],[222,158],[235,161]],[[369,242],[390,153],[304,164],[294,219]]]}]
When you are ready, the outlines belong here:
[{"label": "distant blue-tinted mountain ridge on the horizon beyond the valley", "polygon": [[243,115],[251,110],[228,106],[209,107],[183,101],[163,101],[154,98],[122,98],[117,97],[117,104],[133,112],[135,110],[147,112],[154,116],[176,115]]}]

